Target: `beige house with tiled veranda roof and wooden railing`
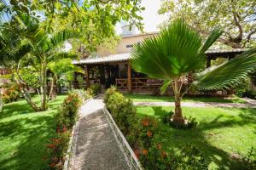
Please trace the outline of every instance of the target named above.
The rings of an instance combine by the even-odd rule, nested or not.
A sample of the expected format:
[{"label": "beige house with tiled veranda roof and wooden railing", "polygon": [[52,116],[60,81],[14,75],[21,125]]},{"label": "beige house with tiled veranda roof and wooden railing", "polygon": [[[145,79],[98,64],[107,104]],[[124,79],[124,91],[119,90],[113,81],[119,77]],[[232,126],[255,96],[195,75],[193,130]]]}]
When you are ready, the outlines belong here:
[{"label": "beige house with tiled veranda roof and wooden railing", "polygon": [[[158,36],[158,32],[135,34],[130,26],[123,27],[123,35],[118,46],[113,51],[100,48],[96,57],[88,57],[73,61],[74,65],[80,65],[84,68],[86,80],[85,87],[91,84],[101,84],[102,89],[115,85],[123,92],[158,94],[161,80],[148,78],[142,73],[138,73],[131,69],[129,59],[131,59],[130,51],[133,44],[139,44],[144,38]],[[218,49],[207,51],[206,66],[211,65],[211,60],[219,57],[232,59],[237,54],[241,54],[246,49]],[[172,94],[170,90],[169,94]]]}]

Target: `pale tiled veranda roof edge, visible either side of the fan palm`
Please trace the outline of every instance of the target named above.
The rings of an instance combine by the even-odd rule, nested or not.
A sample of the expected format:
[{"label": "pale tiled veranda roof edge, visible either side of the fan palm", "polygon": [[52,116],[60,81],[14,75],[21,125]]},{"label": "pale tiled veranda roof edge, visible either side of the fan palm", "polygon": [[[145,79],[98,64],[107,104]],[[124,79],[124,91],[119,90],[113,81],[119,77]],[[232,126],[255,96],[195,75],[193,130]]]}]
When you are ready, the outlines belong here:
[{"label": "pale tiled veranda roof edge, visible either side of the fan palm", "polygon": [[[237,53],[241,54],[242,52],[247,51],[246,48],[232,48],[232,49],[210,49],[207,50],[206,54],[228,54],[228,53]],[[113,54],[103,57],[89,57],[87,59],[74,60],[74,65],[79,64],[101,64],[101,63],[111,63],[111,62],[121,62],[128,61],[131,58],[130,54]]]}]

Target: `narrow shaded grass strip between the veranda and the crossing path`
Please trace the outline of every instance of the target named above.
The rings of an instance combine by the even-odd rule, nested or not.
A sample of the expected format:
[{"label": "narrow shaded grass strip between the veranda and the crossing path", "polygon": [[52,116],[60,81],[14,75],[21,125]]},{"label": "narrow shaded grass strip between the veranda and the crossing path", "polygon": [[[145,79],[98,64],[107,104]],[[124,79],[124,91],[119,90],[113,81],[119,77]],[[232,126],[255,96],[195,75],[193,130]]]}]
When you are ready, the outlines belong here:
[{"label": "narrow shaded grass strip between the veranda and the crossing path", "polygon": [[[173,97],[169,96],[153,96],[148,94],[124,94],[125,97],[132,99],[133,101],[174,101]],[[183,101],[194,101],[194,102],[220,102],[220,103],[246,103],[243,99],[233,96],[231,99],[218,98],[218,97],[183,97]]]}]

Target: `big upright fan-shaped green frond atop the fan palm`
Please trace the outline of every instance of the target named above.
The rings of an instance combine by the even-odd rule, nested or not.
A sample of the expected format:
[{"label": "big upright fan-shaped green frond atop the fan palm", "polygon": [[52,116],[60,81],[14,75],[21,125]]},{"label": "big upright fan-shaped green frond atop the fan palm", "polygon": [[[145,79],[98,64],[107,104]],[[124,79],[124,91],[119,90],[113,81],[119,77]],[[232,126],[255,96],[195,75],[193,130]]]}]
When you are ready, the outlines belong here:
[{"label": "big upright fan-shaped green frond atop the fan palm", "polygon": [[149,37],[131,49],[131,66],[148,77],[172,79],[183,73],[201,69],[205,63],[200,54],[201,37],[177,20],[158,37]]}]

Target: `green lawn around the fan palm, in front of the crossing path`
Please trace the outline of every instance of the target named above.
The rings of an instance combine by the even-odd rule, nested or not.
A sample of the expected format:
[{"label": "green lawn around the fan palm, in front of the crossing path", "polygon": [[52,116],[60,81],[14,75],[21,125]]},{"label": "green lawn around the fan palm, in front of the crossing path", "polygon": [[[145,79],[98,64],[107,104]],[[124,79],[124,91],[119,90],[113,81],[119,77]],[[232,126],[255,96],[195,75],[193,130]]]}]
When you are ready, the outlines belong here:
[{"label": "green lawn around the fan palm, in front of the crossing path", "polygon": [[[172,107],[137,107],[140,116],[162,117]],[[241,169],[230,160],[231,153],[247,153],[256,147],[256,110],[236,108],[183,108],[186,116],[200,122],[195,129],[176,129],[160,123],[156,141],[166,150],[195,144],[210,160],[211,169]]]}]

